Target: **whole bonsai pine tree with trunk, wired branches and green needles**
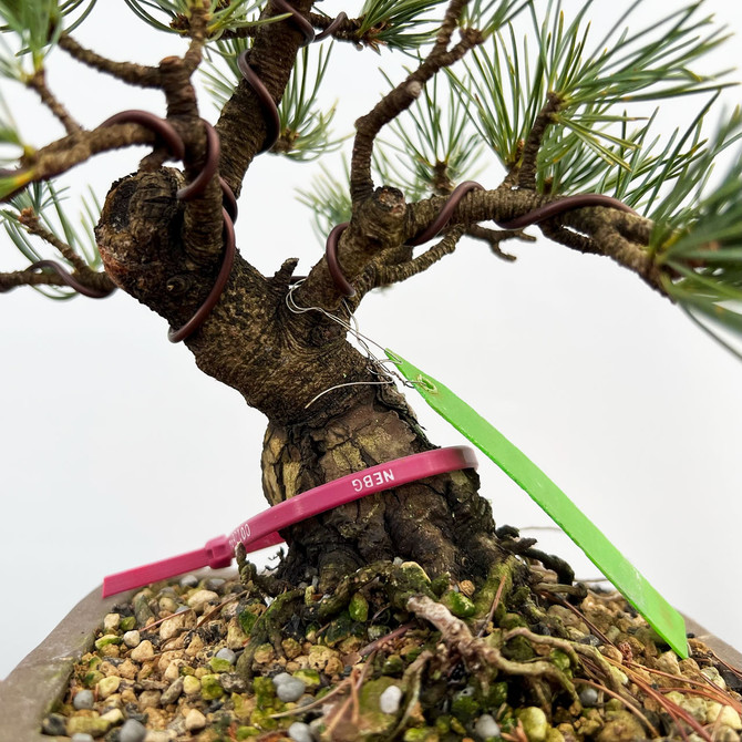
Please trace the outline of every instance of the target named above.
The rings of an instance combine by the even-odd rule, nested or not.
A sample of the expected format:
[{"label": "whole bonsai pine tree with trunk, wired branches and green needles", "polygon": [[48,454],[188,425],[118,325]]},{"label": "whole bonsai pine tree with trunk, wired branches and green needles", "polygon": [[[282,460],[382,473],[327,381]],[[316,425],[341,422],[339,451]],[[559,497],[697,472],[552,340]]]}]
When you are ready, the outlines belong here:
[{"label": "whole bonsai pine tree with trunk, wired branches and green needles", "polygon": [[[434,445],[389,383],[394,367],[352,318],[374,292],[463,259],[467,241],[489,248],[493,270],[517,270],[504,264],[540,231],[610,258],[710,332],[719,323],[739,330],[740,158],[729,147],[741,120],[739,111],[721,123],[710,115],[728,82],[699,70],[724,32],[702,3],[657,23],[643,23],[636,3],[592,38],[589,6],[565,19],[558,3],[515,0],[370,1],[347,14],[311,2],[131,0],[143,33],[183,38],[178,55],[152,65],[79,43],[93,4],[2,3],[2,73],[37,93],[65,133],[31,147],[9,106],[3,141],[17,150],[0,197],[7,241],[28,265],[0,276],[0,288],[92,299],[118,289],[163,317],[202,371],[268,419],[269,504]],[[328,40],[310,45],[315,34]],[[347,173],[303,168],[300,197],[330,236],[326,256],[300,280],[290,250],[264,275],[251,258],[264,248],[240,250],[240,233],[233,237],[235,203],[261,152],[321,164],[341,145],[332,110],[320,105],[329,38],[401,55],[403,66],[359,112]],[[130,111],[82,126],[48,83],[52,50],[96,70],[101,85],[113,78],[157,91],[166,115]],[[203,118],[199,74],[218,103],[214,127]],[[658,106],[674,99],[691,102],[689,121],[661,137]],[[100,194],[100,214],[97,194],[89,197],[87,229],[76,228],[55,179],[138,145],[151,148],[138,169]],[[720,157],[731,165],[709,181]],[[487,172],[483,187],[460,189],[483,162],[499,166],[498,178]],[[257,218],[239,206],[240,226]],[[514,585],[528,584],[512,558],[517,539],[497,532],[472,472],[337,508],[286,537],[277,576],[288,585],[315,578],[320,591],[395,557],[475,584],[505,565]],[[528,548],[569,581],[564,565]]]}]

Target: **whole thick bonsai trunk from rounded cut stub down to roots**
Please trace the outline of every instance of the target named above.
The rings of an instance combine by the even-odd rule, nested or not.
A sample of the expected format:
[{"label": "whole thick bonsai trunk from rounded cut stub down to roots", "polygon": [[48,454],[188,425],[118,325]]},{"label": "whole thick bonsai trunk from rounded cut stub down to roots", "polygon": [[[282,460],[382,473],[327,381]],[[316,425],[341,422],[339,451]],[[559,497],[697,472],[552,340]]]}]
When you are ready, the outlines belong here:
[{"label": "whole thick bonsai trunk from rounded cut stub down to roots", "polygon": [[[97,229],[106,271],[174,327],[193,315],[218,270],[218,259],[196,267],[186,255],[178,185],[167,169],[124,178],[112,188]],[[292,267],[289,261],[265,278],[237,256],[219,302],[186,340],[203,371],[268,416],[262,468],[271,504],[433,447],[392,387],[363,384],[379,378],[343,328],[323,312],[291,311]],[[502,552],[477,487],[474,472],[454,472],[301,523],[286,534],[290,549],[281,571],[291,580],[319,575],[328,586],[359,566],[399,556],[431,576],[484,577]]]}]

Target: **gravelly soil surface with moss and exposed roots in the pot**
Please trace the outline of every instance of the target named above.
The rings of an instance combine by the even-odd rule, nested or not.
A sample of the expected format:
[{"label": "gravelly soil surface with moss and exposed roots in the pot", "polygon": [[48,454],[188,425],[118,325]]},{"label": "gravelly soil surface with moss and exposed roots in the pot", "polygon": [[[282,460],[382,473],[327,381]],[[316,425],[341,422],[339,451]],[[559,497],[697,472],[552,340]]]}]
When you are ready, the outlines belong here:
[{"label": "gravelly soil surface with moss and exposed roots in the pot", "polygon": [[[515,557],[514,557],[515,558]],[[240,564],[115,605],[43,731],[197,739],[739,742],[742,672],[679,660],[617,592],[518,557],[475,587],[378,563],[330,595]]]}]

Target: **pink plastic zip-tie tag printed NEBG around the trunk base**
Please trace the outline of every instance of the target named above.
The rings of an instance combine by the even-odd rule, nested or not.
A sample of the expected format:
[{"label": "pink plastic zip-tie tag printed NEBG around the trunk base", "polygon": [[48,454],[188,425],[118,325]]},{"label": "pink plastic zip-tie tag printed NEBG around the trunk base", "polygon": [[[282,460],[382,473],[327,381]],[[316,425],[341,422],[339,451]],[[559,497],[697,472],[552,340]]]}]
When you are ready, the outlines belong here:
[{"label": "pink plastic zip-tie tag printed NEBG around the trunk base", "polygon": [[228,567],[238,543],[241,543],[248,553],[275,546],[284,540],[278,533],[280,529],[324,511],[377,492],[423,480],[426,476],[476,467],[476,456],[472,449],[452,446],[395,458],[355,474],[341,476],[339,480],[302,492],[300,495],[295,495],[290,499],[269,507],[237,526],[229,536],[212,538],[200,549],[109,575],[103,579],[103,597],[143,587],[150,583],[202,567],[213,569]]}]

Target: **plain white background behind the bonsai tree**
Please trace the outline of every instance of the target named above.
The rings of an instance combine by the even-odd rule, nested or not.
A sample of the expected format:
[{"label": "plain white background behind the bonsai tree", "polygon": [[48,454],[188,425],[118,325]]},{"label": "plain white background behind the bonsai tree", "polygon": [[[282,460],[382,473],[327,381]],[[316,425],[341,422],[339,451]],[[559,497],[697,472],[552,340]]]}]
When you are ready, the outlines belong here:
[{"label": "plain white background behind the bonsai tree", "polygon": [[[739,6],[707,6],[742,28]],[[598,25],[609,20],[602,10],[594,14]],[[113,59],[151,64],[183,49],[142,30],[112,0],[99,3],[78,37]],[[336,53],[327,89],[328,100],[339,99],[341,128],[377,100],[369,91],[383,89],[377,66],[387,55]],[[710,69],[736,59],[739,40]],[[89,127],[127,107],[164,112],[156,93],[99,78],[61,53],[50,60],[49,79]],[[3,91],[31,143],[61,135],[19,86],[3,83]],[[729,105],[739,99],[725,94]],[[695,105],[686,99],[663,115],[682,125]],[[214,121],[206,99],[203,109]],[[90,183],[103,197],[144,152],[97,157],[66,182]],[[321,255],[311,215],[293,203],[295,187],[316,172],[269,155],[254,164],[238,246],[264,272],[289,256],[301,257],[306,270]],[[478,175],[489,187],[499,177],[494,168]],[[369,297],[361,329],[457,391],[670,602],[742,647],[742,367],[608,260],[544,241],[511,249],[515,265],[463,244],[403,288]],[[0,269],[22,267],[0,236]],[[265,419],[203,375],[166,330],[123,292],[65,303],[30,289],[0,297],[0,677],[104,575],[200,547],[265,505]],[[412,403],[433,441],[463,442],[421,400]],[[482,462],[480,472],[498,524],[549,525],[494,464]],[[597,575],[560,533],[534,534],[578,577]]]}]

